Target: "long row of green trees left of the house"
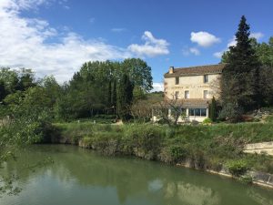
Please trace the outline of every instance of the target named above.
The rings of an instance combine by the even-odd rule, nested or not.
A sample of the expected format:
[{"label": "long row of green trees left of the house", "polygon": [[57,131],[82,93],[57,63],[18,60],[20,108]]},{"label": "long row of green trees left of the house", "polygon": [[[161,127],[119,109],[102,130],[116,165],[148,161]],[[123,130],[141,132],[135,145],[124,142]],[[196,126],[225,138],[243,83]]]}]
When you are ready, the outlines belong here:
[{"label": "long row of green trees left of the house", "polygon": [[[41,140],[52,122],[98,114],[131,118],[134,101],[152,89],[151,67],[141,59],[86,62],[72,79],[37,79],[31,69],[0,70],[0,148]],[[1,155],[1,153],[0,153]]]}]

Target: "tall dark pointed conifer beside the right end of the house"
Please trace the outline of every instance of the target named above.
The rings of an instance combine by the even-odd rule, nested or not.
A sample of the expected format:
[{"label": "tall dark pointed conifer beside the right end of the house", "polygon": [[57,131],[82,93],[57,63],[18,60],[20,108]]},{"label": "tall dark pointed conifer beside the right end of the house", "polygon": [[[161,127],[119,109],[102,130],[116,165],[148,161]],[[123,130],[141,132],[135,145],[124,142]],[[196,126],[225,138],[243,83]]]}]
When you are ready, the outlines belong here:
[{"label": "tall dark pointed conifer beside the right end of the house", "polygon": [[243,15],[236,33],[237,46],[230,46],[227,67],[221,78],[221,99],[223,106],[233,104],[243,110],[251,110],[260,106],[260,90],[258,87],[258,56],[251,46],[249,26]]}]

